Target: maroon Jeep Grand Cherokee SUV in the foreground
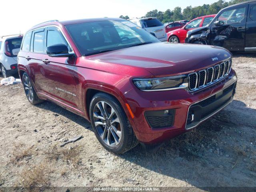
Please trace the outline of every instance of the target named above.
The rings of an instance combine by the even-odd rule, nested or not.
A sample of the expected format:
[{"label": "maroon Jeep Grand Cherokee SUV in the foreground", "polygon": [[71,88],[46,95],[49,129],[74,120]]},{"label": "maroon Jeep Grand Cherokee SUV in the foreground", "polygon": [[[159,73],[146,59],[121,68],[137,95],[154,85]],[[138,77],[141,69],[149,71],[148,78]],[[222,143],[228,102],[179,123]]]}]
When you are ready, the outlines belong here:
[{"label": "maroon Jeep Grand Cherokee SUV in the foreground", "polygon": [[231,64],[224,48],[160,42],[119,18],[39,24],[18,54],[29,102],[85,117],[115,153],[162,143],[224,108],[236,88]]}]

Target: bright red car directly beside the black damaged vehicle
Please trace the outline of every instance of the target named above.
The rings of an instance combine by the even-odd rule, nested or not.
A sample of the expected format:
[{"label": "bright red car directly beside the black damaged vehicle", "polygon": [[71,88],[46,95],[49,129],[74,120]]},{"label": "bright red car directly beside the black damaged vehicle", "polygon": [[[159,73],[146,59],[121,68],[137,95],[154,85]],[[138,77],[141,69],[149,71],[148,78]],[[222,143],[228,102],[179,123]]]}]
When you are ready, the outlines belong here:
[{"label": "bright red car directly beside the black damaged vehicle", "polygon": [[185,43],[189,30],[208,25],[216,15],[207,15],[195,18],[180,29],[167,33],[167,41],[171,43]]}]

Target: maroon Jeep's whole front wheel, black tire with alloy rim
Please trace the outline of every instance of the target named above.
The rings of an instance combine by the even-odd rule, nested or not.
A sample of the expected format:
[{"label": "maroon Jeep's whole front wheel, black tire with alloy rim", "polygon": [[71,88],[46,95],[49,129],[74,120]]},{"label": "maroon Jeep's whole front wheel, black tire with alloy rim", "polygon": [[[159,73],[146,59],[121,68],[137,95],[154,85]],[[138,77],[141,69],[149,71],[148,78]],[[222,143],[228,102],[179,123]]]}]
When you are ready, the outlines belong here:
[{"label": "maroon Jeep's whole front wheel, black tire with alloy rim", "polygon": [[138,144],[122,106],[113,96],[105,93],[93,96],[90,120],[96,138],[107,150],[122,154]]}]

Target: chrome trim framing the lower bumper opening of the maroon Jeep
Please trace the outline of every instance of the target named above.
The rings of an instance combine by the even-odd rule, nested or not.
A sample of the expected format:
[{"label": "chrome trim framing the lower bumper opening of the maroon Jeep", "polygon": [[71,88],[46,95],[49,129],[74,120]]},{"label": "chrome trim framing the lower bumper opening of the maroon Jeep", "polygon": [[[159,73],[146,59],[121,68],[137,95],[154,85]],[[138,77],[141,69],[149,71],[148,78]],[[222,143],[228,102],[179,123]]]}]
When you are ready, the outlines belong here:
[{"label": "chrome trim framing the lower bumper opening of the maroon Jeep", "polygon": [[199,102],[201,102],[201,101],[203,101],[203,100],[206,100],[206,99],[210,98],[211,96],[214,96],[214,95],[218,94],[219,92],[223,91],[224,89],[228,88],[228,86],[231,86],[232,84],[234,84],[234,83],[236,82],[237,78],[236,78],[236,76],[234,75],[234,76],[232,77],[232,79],[230,79],[230,80],[234,80],[234,82],[228,84],[227,86],[225,86],[224,88],[222,88],[222,89],[219,90],[218,92],[215,92],[214,94],[211,94],[210,96],[208,96],[208,97],[206,97],[206,98],[204,98],[204,99],[202,99],[202,100],[199,100],[199,101],[197,101],[197,102],[194,102],[194,103],[190,104],[190,106],[188,107],[188,111],[187,111],[187,118],[186,118],[185,130],[190,130],[190,129],[193,129],[193,128],[197,127],[200,123],[202,123],[203,121],[207,120],[208,118],[214,116],[216,113],[218,113],[220,110],[222,110],[223,108],[225,108],[228,104],[230,104],[230,103],[233,101],[233,98],[232,98],[228,103],[226,103],[224,106],[222,106],[221,108],[219,108],[217,111],[213,112],[213,113],[210,114],[209,116],[206,116],[205,118],[203,118],[202,120],[200,120],[195,126],[192,126],[191,128],[188,128],[188,129],[186,128],[187,122],[188,122],[188,112],[189,112],[190,107],[191,107],[192,105],[197,104],[197,103],[199,103]]}]

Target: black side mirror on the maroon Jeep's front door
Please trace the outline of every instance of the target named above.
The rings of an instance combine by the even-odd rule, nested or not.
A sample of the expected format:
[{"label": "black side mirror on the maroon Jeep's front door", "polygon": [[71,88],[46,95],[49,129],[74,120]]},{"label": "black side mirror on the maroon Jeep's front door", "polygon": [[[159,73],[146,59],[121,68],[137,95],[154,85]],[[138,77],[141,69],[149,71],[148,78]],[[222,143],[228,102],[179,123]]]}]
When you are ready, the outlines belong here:
[{"label": "black side mirror on the maroon Jeep's front door", "polygon": [[68,46],[64,44],[48,46],[46,48],[46,54],[48,54],[50,57],[70,57],[74,55],[74,53],[68,52]]}]

